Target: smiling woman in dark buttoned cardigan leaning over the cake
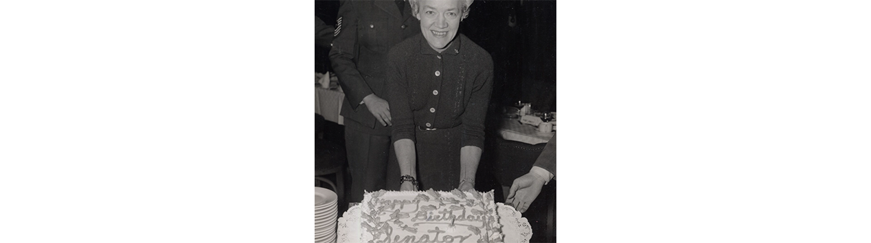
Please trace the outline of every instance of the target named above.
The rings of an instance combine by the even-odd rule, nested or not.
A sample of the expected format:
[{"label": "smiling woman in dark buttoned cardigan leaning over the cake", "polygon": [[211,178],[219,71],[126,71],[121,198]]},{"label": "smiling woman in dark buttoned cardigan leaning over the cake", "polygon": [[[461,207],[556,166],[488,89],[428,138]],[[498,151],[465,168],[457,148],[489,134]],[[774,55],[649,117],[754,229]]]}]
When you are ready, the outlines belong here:
[{"label": "smiling woman in dark buttoned cardigan leaning over the cake", "polygon": [[471,0],[409,3],[422,35],[396,44],[387,65],[396,175],[402,175],[397,186],[403,191],[418,186],[472,190],[483,151],[493,60],[457,33]]}]

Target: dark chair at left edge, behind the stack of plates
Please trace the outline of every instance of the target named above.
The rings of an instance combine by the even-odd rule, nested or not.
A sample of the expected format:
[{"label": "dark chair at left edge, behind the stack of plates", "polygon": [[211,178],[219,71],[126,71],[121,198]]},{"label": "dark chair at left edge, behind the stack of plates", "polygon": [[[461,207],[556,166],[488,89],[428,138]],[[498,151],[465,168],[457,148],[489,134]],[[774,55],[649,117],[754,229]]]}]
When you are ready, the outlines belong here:
[{"label": "dark chair at left edge, behind the stack of plates", "polygon": [[[318,138],[324,127],[323,122],[325,122],[323,116],[314,115],[314,180],[333,187],[333,191],[338,195],[341,210],[341,207],[346,203],[345,169],[348,160],[345,148],[341,144]],[[334,181],[327,179],[329,175],[334,175]]]}]

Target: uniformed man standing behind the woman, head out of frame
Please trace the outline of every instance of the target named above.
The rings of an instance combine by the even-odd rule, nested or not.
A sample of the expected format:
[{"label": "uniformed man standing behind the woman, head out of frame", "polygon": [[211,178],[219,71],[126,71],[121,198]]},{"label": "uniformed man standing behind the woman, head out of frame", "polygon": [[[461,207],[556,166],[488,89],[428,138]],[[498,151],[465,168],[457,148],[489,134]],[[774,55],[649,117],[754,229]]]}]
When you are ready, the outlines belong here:
[{"label": "uniformed man standing behind the woman, head out of frame", "polygon": [[[385,188],[391,152],[387,56],[396,43],[421,33],[420,21],[403,0],[342,1],[330,62],[345,101],[345,144],[351,172],[350,201],[363,190]],[[390,176],[395,179],[396,176]]]}]

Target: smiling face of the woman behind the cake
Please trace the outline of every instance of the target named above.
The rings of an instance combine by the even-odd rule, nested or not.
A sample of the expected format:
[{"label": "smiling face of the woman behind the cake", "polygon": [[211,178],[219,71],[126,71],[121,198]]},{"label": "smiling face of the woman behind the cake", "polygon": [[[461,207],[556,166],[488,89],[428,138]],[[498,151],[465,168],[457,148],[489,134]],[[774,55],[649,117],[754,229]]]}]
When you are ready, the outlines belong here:
[{"label": "smiling face of the woman behind the cake", "polygon": [[463,19],[463,3],[457,0],[424,0],[417,18],[421,20],[423,38],[439,53],[447,49]]}]

